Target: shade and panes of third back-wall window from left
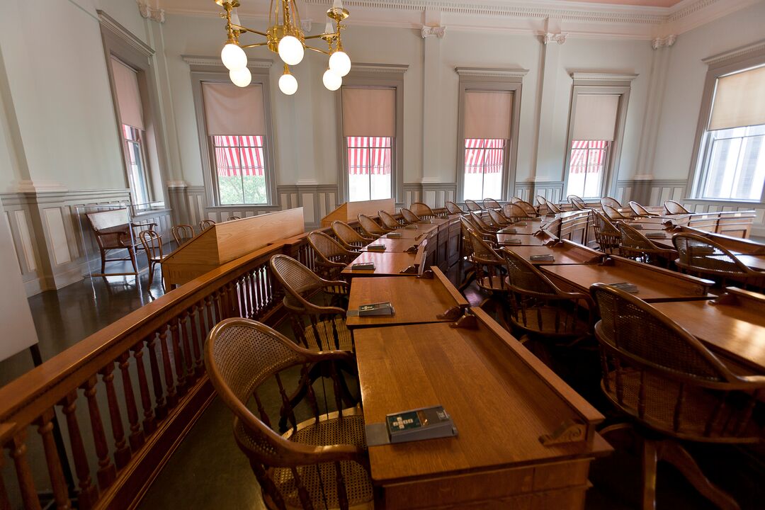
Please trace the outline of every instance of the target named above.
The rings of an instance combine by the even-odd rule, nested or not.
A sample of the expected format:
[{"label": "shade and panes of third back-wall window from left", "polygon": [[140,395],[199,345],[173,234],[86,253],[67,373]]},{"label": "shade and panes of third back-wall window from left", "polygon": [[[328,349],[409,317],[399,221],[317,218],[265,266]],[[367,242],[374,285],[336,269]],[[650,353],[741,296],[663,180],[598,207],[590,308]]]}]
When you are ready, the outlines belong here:
[{"label": "shade and panes of third back-wall window from left", "polygon": [[512,92],[465,92],[463,199],[502,198],[512,112]]}]

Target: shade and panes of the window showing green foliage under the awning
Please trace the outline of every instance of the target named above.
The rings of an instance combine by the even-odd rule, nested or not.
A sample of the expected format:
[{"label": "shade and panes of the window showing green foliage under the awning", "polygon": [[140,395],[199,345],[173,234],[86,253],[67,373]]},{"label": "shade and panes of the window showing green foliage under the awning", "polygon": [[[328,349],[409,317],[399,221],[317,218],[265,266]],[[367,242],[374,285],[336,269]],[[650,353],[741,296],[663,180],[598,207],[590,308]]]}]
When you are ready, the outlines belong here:
[{"label": "shade and panes of the window showing green foliage under the awning", "polygon": [[269,203],[263,88],[202,83],[216,205]]}]

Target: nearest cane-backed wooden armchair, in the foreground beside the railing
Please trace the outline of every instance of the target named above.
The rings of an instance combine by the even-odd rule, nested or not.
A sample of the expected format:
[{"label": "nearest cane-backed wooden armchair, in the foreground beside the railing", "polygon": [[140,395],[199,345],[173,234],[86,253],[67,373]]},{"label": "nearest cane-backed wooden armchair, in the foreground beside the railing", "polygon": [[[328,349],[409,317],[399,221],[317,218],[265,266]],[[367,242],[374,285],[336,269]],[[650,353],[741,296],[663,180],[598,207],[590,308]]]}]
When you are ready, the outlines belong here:
[{"label": "nearest cane-backed wooden armchair, in the foreground beside the railing", "polygon": [[[234,414],[234,439],[266,508],[373,508],[363,414],[343,409],[336,389],[343,379],[335,367],[353,363],[350,352],[303,349],[269,326],[239,318],[213,327],[204,350],[210,382]],[[314,390],[313,367],[334,384]],[[293,388],[299,401],[287,397]],[[322,394],[335,411],[319,411]],[[298,412],[310,417],[298,423]],[[280,422],[289,426],[284,434],[272,427]]]}]

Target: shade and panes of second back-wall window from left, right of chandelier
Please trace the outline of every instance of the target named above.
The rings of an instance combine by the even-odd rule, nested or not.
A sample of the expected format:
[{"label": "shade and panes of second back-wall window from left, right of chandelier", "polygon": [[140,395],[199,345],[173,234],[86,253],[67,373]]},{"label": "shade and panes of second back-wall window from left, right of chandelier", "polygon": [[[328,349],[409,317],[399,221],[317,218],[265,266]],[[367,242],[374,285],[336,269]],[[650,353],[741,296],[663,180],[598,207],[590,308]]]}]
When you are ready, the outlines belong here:
[{"label": "shade and panes of second back-wall window from left, right of chandelier", "polygon": [[393,197],[396,89],[344,86],[342,108],[348,200]]}]

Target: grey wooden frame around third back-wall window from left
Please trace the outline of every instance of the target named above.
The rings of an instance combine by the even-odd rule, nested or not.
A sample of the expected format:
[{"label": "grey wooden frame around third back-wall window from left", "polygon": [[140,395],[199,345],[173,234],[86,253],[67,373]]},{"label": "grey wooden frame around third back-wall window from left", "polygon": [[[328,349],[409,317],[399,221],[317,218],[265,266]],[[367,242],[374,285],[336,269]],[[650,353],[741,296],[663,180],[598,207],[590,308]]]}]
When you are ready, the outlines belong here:
[{"label": "grey wooden frame around third back-wall window from left", "polygon": [[510,112],[510,138],[503,154],[502,189],[496,200],[507,200],[516,190],[516,166],[518,163],[518,138],[522,103],[523,76],[528,70],[480,70],[457,67],[459,82],[459,104],[457,107],[457,201],[464,202],[465,192],[465,93],[476,92],[512,92],[513,111]]}]

